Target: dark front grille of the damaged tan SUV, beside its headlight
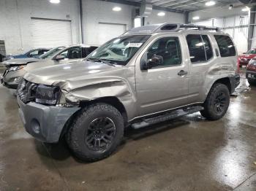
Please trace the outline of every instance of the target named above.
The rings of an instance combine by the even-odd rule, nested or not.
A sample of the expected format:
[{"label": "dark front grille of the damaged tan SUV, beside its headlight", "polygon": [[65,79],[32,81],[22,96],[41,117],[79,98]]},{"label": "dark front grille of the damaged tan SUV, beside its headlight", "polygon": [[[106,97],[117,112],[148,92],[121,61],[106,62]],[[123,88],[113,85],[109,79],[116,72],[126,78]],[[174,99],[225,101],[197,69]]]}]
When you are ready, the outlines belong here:
[{"label": "dark front grille of the damaged tan SUV, beside its headlight", "polygon": [[25,104],[29,103],[30,101],[35,101],[37,86],[37,84],[29,82],[26,79],[22,79],[18,85],[17,96]]}]

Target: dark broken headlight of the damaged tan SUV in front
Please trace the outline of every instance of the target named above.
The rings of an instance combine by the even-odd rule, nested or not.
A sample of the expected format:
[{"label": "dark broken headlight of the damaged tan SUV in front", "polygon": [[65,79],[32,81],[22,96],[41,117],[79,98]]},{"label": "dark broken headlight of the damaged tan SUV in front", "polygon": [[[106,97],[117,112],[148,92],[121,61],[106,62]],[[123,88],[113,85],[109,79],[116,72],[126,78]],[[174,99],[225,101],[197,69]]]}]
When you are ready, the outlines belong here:
[{"label": "dark broken headlight of the damaged tan SUV in front", "polygon": [[59,87],[38,85],[36,92],[36,103],[46,105],[56,105],[59,101],[61,90]]}]

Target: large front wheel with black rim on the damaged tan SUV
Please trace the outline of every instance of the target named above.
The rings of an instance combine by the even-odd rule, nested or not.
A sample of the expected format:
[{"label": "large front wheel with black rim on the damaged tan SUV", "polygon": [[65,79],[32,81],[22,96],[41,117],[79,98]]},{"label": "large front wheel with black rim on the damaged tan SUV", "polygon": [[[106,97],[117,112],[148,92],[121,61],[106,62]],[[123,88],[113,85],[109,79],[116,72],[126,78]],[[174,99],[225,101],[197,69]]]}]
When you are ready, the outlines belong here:
[{"label": "large front wheel with black rim on the damaged tan SUV", "polygon": [[123,136],[121,113],[99,103],[80,111],[67,132],[67,144],[78,159],[94,162],[111,155]]}]

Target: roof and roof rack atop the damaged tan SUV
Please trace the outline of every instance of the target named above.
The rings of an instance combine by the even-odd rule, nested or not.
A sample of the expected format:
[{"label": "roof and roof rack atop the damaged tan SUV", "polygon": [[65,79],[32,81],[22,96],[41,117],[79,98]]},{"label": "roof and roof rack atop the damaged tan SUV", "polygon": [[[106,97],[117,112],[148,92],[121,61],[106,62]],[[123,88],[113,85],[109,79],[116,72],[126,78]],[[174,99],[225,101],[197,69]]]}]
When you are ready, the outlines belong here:
[{"label": "roof and roof rack atop the damaged tan SUV", "polygon": [[158,32],[177,32],[184,29],[199,30],[199,31],[221,31],[218,27],[208,27],[208,26],[197,26],[194,24],[170,24],[162,23],[148,26],[141,26],[138,28],[132,28],[125,34],[142,34],[142,33],[158,33]]}]

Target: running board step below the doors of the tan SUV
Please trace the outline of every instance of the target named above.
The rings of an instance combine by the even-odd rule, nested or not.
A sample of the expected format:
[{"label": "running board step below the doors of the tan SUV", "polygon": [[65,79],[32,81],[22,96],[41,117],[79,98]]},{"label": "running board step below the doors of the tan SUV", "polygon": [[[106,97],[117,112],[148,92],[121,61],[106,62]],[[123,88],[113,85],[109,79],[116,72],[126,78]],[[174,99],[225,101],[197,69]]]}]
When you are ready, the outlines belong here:
[{"label": "running board step below the doors of the tan SUV", "polygon": [[173,112],[167,112],[167,113],[159,115],[157,117],[151,117],[151,118],[144,119],[142,122],[133,123],[131,126],[132,126],[132,128],[135,128],[135,129],[144,128],[148,125],[153,125],[153,124],[156,124],[159,122],[165,122],[167,120],[173,120],[177,117],[181,117],[186,114],[200,112],[201,110],[203,110],[203,106],[192,106],[192,107],[188,107],[186,109],[177,109]]}]

